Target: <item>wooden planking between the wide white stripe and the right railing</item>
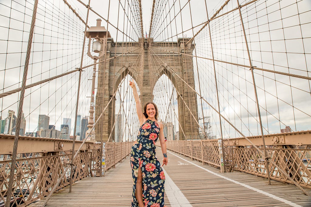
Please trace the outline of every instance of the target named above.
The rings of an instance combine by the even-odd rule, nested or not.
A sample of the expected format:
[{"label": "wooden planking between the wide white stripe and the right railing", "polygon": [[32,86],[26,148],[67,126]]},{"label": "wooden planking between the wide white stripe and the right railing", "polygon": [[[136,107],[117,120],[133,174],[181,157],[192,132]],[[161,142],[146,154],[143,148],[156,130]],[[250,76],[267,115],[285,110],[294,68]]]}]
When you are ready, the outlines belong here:
[{"label": "wooden planking between the wide white stripe and the right railing", "polygon": [[[160,152],[159,152],[160,153]],[[178,155],[173,153],[174,155]],[[305,196],[294,185],[283,184],[272,181],[267,184],[267,179],[254,175],[234,172],[220,173],[219,169],[202,165],[191,158],[174,156],[168,153],[169,164],[165,170],[174,183],[182,190],[183,194],[190,201],[192,206],[289,206],[279,200],[263,195],[259,192],[243,187],[242,185],[230,182],[224,178],[217,177],[195,165],[202,166],[214,173],[231,178],[240,183],[273,194],[301,206],[310,206],[311,198]]]}]

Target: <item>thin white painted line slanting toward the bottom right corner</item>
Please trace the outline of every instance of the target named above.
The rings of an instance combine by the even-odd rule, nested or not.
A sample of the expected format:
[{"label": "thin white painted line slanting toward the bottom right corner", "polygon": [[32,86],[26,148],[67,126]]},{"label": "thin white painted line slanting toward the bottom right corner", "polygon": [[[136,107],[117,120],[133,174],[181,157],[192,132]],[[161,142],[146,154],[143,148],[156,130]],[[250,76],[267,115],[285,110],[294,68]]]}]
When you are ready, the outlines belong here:
[{"label": "thin white painted line slanting toward the bottom right corner", "polygon": [[[167,152],[169,152],[169,151],[167,151]],[[175,155],[175,154],[173,154],[172,152],[169,152],[169,153],[171,153],[172,155]],[[303,207],[303,206],[298,205],[298,204],[295,204],[295,203],[293,203],[293,202],[291,202],[291,201],[289,201],[289,200],[285,200],[285,199],[280,198],[280,197],[278,197],[278,196],[272,195],[271,193],[267,193],[267,192],[265,192],[265,191],[262,191],[262,190],[259,190],[259,189],[257,189],[257,188],[251,187],[251,186],[246,185],[246,184],[244,184],[244,183],[240,183],[240,182],[238,182],[238,181],[235,181],[235,180],[233,180],[233,179],[231,179],[231,178],[227,178],[227,177],[225,177],[225,176],[223,176],[223,175],[219,175],[219,174],[217,174],[217,173],[214,173],[214,172],[212,172],[211,170],[207,170],[206,168],[201,167],[200,165],[194,164],[194,163],[192,163],[192,162],[190,162],[190,161],[188,161],[188,160],[185,160],[185,159],[183,159],[182,157],[180,157],[180,156],[178,156],[178,155],[175,155],[175,156],[176,156],[176,157],[179,157],[180,159],[182,159],[182,160],[184,160],[184,161],[186,161],[186,162],[189,162],[189,163],[191,163],[191,164],[193,164],[193,165],[195,165],[195,166],[197,166],[197,167],[199,167],[199,168],[201,168],[201,169],[203,169],[203,170],[205,170],[205,171],[207,171],[207,172],[209,172],[209,173],[211,173],[211,174],[214,174],[214,175],[216,175],[216,176],[218,176],[218,177],[220,177],[220,178],[224,178],[224,179],[226,179],[226,180],[228,180],[228,181],[231,181],[231,182],[233,182],[233,183],[236,183],[236,184],[239,184],[239,185],[241,185],[241,186],[247,187],[248,189],[251,189],[251,190],[256,191],[256,192],[258,192],[258,193],[261,193],[261,194],[263,194],[263,195],[269,196],[269,197],[271,197],[271,198],[273,198],[273,199],[275,199],[275,200],[279,200],[279,201],[284,202],[284,203],[286,203],[286,204],[288,204],[288,205],[291,205],[291,206]]]}]

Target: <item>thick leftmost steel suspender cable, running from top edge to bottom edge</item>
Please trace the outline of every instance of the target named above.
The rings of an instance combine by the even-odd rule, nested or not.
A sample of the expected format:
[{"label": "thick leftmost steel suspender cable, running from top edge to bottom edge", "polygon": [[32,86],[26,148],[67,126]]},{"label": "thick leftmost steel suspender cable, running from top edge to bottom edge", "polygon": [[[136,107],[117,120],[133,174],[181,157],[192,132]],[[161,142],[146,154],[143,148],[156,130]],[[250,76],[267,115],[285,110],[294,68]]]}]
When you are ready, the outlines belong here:
[{"label": "thick leftmost steel suspender cable, running from top edge to bottom edge", "polygon": [[33,13],[32,13],[30,32],[29,32],[29,39],[28,39],[28,46],[27,46],[27,53],[26,53],[26,60],[25,60],[25,67],[24,67],[24,75],[23,75],[23,81],[22,81],[22,85],[21,85],[21,95],[20,95],[20,101],[18,104],[16,133],[15,133],[15,138],[14,138],[11,169],[10,169],[11,173],[10,173],[10,178],[9,178],[9,185],[7,187],[7,201],[5,203],[5,207],[9,207],[10,202],[11,202],[12,187],[13,187],[14,172],[15,172],[15,164],[16,164],[17,145],[18,145],[18,138],[19,138],[19,130],[21,127],[21,115],[22,115],[23,103],[24,103],[28,64],[29,64],[29,58],[30,58],[30,49],[31,49],[31,44],[32,44],[32,37],[34,34],[34,30],[35,30],[37,7],[38,7],[38,0],[35,0],[34,9],[33,9]]}]

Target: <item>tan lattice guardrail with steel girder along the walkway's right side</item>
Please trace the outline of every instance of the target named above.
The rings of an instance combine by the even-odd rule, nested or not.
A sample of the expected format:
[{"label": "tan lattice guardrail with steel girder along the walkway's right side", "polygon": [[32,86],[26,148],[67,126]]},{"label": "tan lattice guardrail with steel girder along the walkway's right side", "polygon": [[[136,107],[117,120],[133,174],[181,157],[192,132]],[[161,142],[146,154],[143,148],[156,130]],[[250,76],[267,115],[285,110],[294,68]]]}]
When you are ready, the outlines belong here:
[{"label": "tan lattice guardrail with steel girder along the walkway's right side", "polygon": [[[262,137],[248,137],[260,150]],[[272,180],[293,183],[311,189],[311,131],[269,134],[264,136],[266,157],[244,138],[223,139],[223,162],[227,172],[233,170],[254,174]],[[160,146],[160,143],[156,143]],[[167,149],[190,157],[203,164],[221,167],[221,140],[167,141]],[[269,161],[276,163],[278,167]],[[268,169],[265,165],[268,160]],[[282,174],[282,172],[286,174]]]}]

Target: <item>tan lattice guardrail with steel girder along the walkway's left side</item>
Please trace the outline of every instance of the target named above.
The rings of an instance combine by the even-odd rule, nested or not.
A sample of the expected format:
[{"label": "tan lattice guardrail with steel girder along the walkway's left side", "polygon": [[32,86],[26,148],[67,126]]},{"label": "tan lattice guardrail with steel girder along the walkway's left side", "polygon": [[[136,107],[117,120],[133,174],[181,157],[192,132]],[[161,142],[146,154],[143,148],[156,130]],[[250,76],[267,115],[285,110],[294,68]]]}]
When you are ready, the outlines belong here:
[{"label": "tan lattice guardrail with steel girder along the walkway's left side", "polygon": [[[11,156],[14,136],[0,135],[0,196],[6,200],[10,177]],[[78,149],[82,141],[76,141]],[[105,143],[106,170],[122,161],[131,150],[131,142]],[[73,182],[93,176],[100,176],[102,166],[100,143],[86,142],[73,163]],[[11,206],[26,206],[49,195],[58,179],[56,191],[70,184],[72,140],[37,137],[20,137],[17,151]]]}]

